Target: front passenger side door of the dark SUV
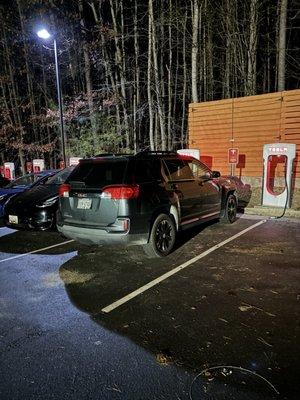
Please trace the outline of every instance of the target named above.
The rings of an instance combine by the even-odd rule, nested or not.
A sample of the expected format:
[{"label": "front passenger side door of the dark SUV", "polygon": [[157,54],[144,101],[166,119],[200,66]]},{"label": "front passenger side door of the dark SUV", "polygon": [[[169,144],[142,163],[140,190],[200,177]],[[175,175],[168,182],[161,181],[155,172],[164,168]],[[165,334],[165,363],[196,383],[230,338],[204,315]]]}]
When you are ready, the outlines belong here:
[{"label": "front passenger side door of the dark SUV", "polygon": [[202,215],[211,216],[214,213],[219,213],[221,209],[221,189],[213,181],[211,170],[198,160],[191,160],[188,164],[198,185],[202,188],[200,193]]}]

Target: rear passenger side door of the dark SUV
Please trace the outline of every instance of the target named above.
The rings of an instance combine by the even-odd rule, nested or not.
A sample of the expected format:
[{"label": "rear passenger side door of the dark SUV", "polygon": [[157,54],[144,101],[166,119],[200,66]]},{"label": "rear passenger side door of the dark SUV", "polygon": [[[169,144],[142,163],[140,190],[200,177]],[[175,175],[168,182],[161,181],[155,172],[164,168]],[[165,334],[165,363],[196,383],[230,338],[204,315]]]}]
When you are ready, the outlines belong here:
[{"label": "rear passenger side door of the dark SUV", "polygon": [[192,174],[186,160],[164,159],[167,183],[166,189],[177,198],[182,225],[196,222],[201,216],[202,187]]}]

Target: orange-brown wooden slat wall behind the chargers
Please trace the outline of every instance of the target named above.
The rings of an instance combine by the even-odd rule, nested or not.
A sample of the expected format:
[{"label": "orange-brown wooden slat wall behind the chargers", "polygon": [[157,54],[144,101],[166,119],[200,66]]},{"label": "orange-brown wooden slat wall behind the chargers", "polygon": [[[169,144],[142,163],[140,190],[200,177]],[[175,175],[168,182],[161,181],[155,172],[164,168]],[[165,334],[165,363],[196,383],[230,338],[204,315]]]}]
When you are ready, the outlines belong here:
[{"label": "orange-brown wooden slat wall behind the chargers", "polygon": [[223,174],[230,171],[228,148],[238,147],[246,157],[242,176],[261,177],[263,145],[274,142],[296,143],[299,157],[300,89],[189,105],[189,147]]}]

